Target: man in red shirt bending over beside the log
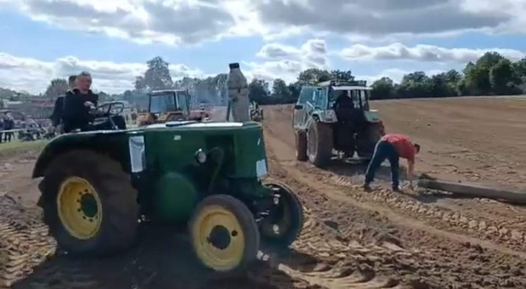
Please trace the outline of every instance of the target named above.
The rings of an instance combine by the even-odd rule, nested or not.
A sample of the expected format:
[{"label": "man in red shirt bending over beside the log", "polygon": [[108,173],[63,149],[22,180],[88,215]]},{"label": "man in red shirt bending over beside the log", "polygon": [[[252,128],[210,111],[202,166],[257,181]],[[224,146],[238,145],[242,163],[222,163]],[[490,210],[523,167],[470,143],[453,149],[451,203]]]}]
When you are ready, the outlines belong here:
[{"label": "man in red shirt bending over beside the log", "polygon": [[385,135],[383,136],[375,147],[375,153],[372,156],[371,162],[367,167],[367,173],[365,176],[365,184],[363,188],[370,190],[369,184],[375,179],[375,172],[380,167],[385,159],[389,160],[391,165],[391,180],[392,189],[395,192],[399,191],[399,178],[398,178],[398,161],[399,158],[407,159],[408,163],[408,179],[411,183],[414,174],[414,156],[420,152],[420,145],[412,143],[406,136],[402,135]]}]

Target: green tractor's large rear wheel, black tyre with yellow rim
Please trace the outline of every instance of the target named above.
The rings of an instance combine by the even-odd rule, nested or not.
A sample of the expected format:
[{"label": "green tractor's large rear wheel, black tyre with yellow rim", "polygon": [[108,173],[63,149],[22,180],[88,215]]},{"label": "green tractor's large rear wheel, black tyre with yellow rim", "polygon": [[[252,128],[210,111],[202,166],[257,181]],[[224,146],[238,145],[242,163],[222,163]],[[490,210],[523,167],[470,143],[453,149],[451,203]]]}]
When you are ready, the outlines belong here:
[{"label": "green tractor's large rear wheel, black tyre with yellow rim", "polygon": [[90,150],[57,157],[39,186],[44,222],[71,255],[103,256],[137,236],[137,191],[120,163]]}]

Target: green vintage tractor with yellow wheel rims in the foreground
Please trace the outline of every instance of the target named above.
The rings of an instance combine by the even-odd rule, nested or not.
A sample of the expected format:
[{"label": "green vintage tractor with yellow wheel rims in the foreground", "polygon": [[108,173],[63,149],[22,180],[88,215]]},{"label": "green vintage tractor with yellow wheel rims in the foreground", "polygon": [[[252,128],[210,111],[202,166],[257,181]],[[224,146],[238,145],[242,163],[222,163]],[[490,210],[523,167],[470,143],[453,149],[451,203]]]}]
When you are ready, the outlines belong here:
[{"label": "green vintage tractor with yellow wheel rims in the foreground", "polygon": [[44,221],[74,256],[125,250],[145,218],[187,225],[198,260],[218,272],[243,270],[260,242],[286,247],[302,228],[296,195],[267,175],[257,122],[166,122],[55,138],[33,178]]}]

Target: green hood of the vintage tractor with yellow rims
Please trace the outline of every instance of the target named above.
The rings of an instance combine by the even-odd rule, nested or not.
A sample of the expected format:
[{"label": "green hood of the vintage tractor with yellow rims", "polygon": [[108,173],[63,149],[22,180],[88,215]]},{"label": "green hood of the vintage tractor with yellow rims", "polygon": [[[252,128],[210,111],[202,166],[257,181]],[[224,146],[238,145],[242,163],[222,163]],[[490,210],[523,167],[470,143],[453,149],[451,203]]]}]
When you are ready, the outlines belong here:
[{"label": "green hood of the vintage tractor with yellow rims", "polygon": [[[167,122],[135,132],[144,135],[146,161],[161,171],[180,171],[195,163],[198,149],[216,154],[221,174],[254,178],[267,174],[263,129],[258,122]],[[219,157],[218,157],[219,156]]]}]

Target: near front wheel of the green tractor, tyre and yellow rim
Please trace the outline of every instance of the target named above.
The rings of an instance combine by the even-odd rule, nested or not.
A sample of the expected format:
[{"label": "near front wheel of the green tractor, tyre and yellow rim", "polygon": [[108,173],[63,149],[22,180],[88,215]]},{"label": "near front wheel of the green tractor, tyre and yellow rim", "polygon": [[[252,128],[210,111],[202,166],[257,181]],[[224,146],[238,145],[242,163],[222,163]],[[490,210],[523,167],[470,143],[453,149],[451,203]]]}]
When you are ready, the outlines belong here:
[{"label": "near front wheel of the green tractor, tyre and yellow rim", "polygon": [[[217,224],[215,225],[214,214],[210,212],[211,210],[218,211],[219,215],[222,216],[220,219],[215,219],[217,220]],[[235,224],[229,225],[221,223],[220,221],[225,220],[225,215],[234,221]],[[205,220],[203,220],[203,218],[209,221],[210,225],[204,223]],[[206,232],[207,230],[205,230],[204,235],[202,235],[203,232],[200,232],[200,229],[202,229],[203,226],[210,228],[211,225],[214,225],[214,227],[210,232]],[[227,226],[230,228],[227,228]],[[211,195],[201,201],[197,205],[194,215],[188,222],[188,228],[191,244],[197,259],[209,269],[221,273],[238,273],[244,271],[251,262],[256,260],[259,250],[259,231],[254,220],[254,215],[244,203],[230,195]],[[240,229],[242,234],[237,232],[236,228]],[[224,229],[226,229],[226,231]],[[216,233],[214,231],[216,231]],[[225,234],[225,232],[228,232],[228,234]],[[236,239],[236,237],[239,238],[240,236],[243,238]],[[228,240],[220,240],[221,237]],[[217,244],[213,243],[214,240]],[[228,244],[221,241],[225,241],[225,243]],[[240,246],[242,246],[242,249]],[[230,259],[228,260],[221,259],[217,261],[220,259],[219,256],[209,257],[210,254],[217,251],[215,248],[214,250],[210,250],[211,252],[208,251],[209,248],[212,247],[219,248],[221,251],[237,249],[239,252],[238,255],[229,255]]]}]

